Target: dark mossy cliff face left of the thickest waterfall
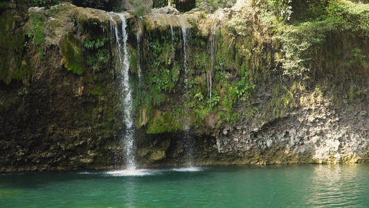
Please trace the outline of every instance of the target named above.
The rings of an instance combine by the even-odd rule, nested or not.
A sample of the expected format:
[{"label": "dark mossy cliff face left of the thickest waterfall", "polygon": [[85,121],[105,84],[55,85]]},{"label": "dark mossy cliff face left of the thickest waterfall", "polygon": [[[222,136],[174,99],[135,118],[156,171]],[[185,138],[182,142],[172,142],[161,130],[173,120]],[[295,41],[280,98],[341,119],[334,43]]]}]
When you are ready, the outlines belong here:
[{"label": "dark mossy cliff face left of the thickest waterfall", "polygon": [[[8,20],[12,12],[17,11],[9,8],[1,15]],[[8,56],[17,49],[13,44],[22,48],[12,57],[20,64],[1,55],[1,64],[18,68],[8,67],[0,83],[0,171],[114,166],[120,112],[113,60],[109,52],[103,64],[89,63],[98,67],[93,70],[87,58],[97,49],[83,46],[88,38],[105,38],[109,17],[61,4],[50,10],[32,8],[28,18],[24,25],[13,22],[12,30],[24,32],[6,45]],[[111,51],[110,44],[100,49]],[[28,73],[9,75],[20,69]]]}]

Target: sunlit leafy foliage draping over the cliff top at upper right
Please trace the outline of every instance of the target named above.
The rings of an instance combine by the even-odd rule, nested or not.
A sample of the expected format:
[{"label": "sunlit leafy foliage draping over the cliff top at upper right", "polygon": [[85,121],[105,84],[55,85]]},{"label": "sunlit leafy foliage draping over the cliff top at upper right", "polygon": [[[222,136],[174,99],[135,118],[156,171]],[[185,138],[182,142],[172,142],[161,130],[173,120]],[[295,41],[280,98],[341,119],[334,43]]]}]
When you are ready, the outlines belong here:
[{"label": "sunlit leafy foliage draping over the cliff top at upper right", "polygon": [[[308,10],[312,14],[309,19],[297,24],[279,24],[274,39],[282,45],[282,64],[285,75],[302,76],[309,71],[314,62],[314,55],[321,50],[327,37],[332,34],[348,32],[369,37],[369,5],[350,1],[329,1],[328,5],[310,4]],[[365,65],[361,49],[351,51],[354,63]]]}]

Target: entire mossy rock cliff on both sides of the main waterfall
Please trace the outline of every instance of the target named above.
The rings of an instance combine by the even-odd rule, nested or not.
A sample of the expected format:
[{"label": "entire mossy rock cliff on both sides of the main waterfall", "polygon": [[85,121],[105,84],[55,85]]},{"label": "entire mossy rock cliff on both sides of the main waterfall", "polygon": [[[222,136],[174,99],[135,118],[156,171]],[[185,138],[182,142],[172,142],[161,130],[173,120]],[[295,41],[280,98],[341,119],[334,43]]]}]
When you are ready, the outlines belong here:
[{"label": "entire mossy rock cliff on both sides of the main waterfall", "polygon": [[[317,11],[277,21],[259,3],[214,14],[125,14],[138,166],[188,163],[188,134],[199,165],[366,162],[366,8],[348,3],[348,19],[337,20],[329,15],[342,5],[331,5],[306,24]],[[24,52],[1,72],[0,171],[122,165],[109,16],[64,3],[28,17],[12,29],[23,34],[11,40],[22,42],[13,51]],[[361,27],[342,29],[343,21]],[[11,75],[20,69],[26,73]]]}]

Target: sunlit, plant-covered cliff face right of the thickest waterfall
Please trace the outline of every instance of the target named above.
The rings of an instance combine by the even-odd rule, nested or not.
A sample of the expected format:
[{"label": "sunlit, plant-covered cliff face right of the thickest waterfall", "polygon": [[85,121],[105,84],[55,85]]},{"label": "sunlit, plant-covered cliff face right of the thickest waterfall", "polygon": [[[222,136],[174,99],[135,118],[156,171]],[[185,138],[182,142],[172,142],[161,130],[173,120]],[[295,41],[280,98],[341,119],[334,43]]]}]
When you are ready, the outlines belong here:
[{"label": "sunlit, plant-covered cliff face right of the thickest waterfall", "polygon": [[[325,6],[289,21],[268,19],[272,11],[250,1],[210,15],[145,17],[141,164],[186,164],[186,130],[195,164],[366,162],[369,8]],[[147,160],[156,148],[165,154]]]}]

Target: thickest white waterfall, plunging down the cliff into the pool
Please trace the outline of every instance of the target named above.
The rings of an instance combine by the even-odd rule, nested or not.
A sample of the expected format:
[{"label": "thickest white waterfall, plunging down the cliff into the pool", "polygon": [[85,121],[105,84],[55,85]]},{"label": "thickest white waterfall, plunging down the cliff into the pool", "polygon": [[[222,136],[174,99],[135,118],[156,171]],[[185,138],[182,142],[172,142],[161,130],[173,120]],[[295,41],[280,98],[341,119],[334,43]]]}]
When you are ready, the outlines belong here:
[{"label": "thickest white waterfall, plunging down the cliff into the pool", "polygon": [[[122,21],[122,31],[119,33],[118,24],[111,14],[117,15]],[[122,87],[121,96],[123,96],[123,117],[125,119],[126,132],[120,135],[120,141],[125,145],[125,156],[127,170],[136,169],[134,162],[134,121],[132,117],[132,89],[129,86],[129,64],[130,57],[127,50],[128,34],[126,31],[127,22],[125,16],[120,13],[109,13],[111,29],[114,30],[116,37],[116,49],[118,56],[117,69],[121,73],[120,85]]]}]

